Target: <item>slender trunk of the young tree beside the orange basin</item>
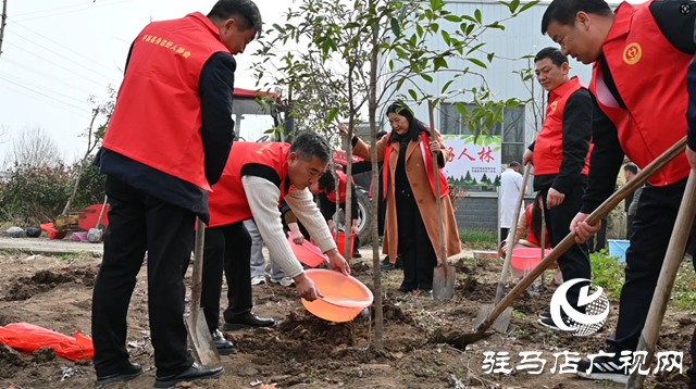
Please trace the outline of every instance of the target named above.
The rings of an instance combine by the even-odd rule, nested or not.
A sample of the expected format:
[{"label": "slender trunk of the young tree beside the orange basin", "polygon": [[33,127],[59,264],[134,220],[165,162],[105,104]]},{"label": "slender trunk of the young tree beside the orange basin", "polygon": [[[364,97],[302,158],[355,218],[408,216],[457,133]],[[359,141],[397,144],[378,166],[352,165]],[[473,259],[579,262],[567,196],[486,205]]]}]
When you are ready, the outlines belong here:
[{"label": "slender trunk of the young tree beside the orange basin", "polygon": [[372,53],[370,61],[370,91],[369,116],[370,116],[370,145],[372,146],[372,221],[370,229],[372,233],[372,275],[374,283],[374,348],[375,351],[383,351],[382,332],[384,330],[384,318],[382,312],[382,269],[380,268],[380,233],[377,231],[377,217],[380,204],[380,167],[377,165],[377,55],[380,46],[377,41],[377,24],[372,26]]}]

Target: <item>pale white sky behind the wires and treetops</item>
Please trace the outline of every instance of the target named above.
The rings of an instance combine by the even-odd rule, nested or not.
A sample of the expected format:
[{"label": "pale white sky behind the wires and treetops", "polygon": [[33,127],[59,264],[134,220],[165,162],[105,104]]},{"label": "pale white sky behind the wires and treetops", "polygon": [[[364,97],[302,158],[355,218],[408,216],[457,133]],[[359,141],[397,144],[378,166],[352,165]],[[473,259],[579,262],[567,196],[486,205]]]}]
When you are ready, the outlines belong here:
[{"label": "pale white sky behind the wires and treetops", "polygon": [[[283,23],[291,0],[258,0],[265,26]],[[634,1],[632,1],[634,2]],[[642,2],[637,0],[635,2]],[[208,13],[215,0],[8,0],[0,54],[0,161],[24,128],[41,127],[67,161],[86,150],[89,96],[119,87],[133,39],[150,21]],[[237,55],[235,87],[253,89],[259,48]]]}]

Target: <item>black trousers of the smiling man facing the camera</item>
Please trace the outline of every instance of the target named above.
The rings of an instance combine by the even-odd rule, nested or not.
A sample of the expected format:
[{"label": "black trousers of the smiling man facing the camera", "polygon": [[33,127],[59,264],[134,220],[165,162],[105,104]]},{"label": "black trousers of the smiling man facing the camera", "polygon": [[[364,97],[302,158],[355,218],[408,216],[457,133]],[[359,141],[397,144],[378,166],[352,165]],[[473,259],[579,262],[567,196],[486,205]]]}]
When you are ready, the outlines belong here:
[{"label": "black trousers of the smiling man facing the camera", "polygon": [[[573,189],[566,195],[560,205],[548,209],[546,198],[548,189],[543,190],[542,198],[546,208],[546,227],[548,229],[551,246],[558,246],[570,233],[570,224],[573,217],[580,212],[583,203],[583,195],[585,195],[584,184],[573,186]],[[592,267],[589,264],[589,254],[587,253],[587,244],[573,244],[558,259],[558,266],[563,274],[563,281],[573,278],[592,279]],[[580,288],[588,285],[588,283],[577,283],[567,293],[568,302],[576,311],[585,312],[585,306],[577,306],[577,296]]]}]

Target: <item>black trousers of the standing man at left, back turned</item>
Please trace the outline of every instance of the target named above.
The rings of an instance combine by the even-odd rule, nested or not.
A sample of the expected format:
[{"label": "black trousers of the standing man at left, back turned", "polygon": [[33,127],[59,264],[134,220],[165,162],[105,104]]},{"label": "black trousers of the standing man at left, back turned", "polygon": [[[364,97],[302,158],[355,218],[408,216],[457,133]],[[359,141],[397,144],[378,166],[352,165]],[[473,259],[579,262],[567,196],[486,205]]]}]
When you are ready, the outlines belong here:
[{"label": "black trousers of the standing man at left, back turned", "polygon": [[95,281],[91,331],[97,376],[116,374],[128,362],[126,316],[148,252],[148,311],[158,376],[186,371],[186,287],[182,272],[195,241],[196,215],[107,176],[109,227]]}]

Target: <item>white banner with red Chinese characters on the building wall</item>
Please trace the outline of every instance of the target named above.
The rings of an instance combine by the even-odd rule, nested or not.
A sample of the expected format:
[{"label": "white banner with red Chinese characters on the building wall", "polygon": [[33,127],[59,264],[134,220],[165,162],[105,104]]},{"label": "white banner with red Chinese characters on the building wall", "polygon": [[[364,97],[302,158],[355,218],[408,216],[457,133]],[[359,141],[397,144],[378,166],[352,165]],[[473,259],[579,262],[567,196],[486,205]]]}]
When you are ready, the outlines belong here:
[{"label": "white banner with red Chinese characters on the building wall", "polygon": [[443,173],[451,185],[500,186],[500,136],[445,135],[449,161]]}]

